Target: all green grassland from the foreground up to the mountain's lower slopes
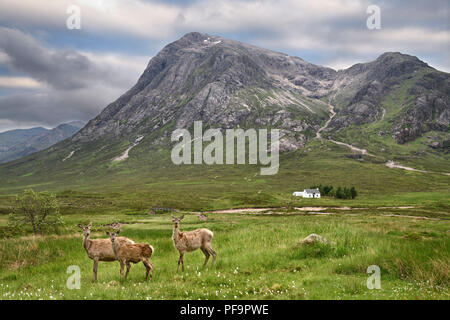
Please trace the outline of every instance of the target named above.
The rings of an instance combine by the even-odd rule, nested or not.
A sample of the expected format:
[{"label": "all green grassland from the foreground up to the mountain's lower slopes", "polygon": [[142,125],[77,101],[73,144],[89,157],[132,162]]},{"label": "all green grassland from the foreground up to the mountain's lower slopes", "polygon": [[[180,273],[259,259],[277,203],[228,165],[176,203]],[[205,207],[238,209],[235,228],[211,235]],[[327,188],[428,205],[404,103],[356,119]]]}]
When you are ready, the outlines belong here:
[{"label": "all green grassland from the foreground up to the mountain's lower slopes", "polygon": [[[260,176],[259,167],[250,165],[175,166],[167,150],[139,146],[117,164],[110,159],[126,145],[100,162],[93,147],[92,155],[75,155],[74,164],[55,162],[55,170],[52,163],[31,158],[20,160],[25,165],[2,167],[8,180],[0,185],[0,299],[450,298],[447,175],[387,168],[389,150],[386,156],[355,159],[348,148],[325,140],[281,154],[274,176]],[[412,158],[416,146],[402,150],[402,164],[450,171],[448,154]],[[319,183],[355,186],[359,195],[355,200],[291,196]],[[60,235],[32,237],[8,228],[13,196],[25,188],[57,194],[66,223]],[[310,206],[327,207],[320,211],[331,214],[295,209]],[[393,208],[398,206],[406,208]],[[185,213],[182,230],[211,229],[216,266],[202,269],[203,254],[197,251],[186,255],[187,270],[177,274],[170,214],[149,216],[151,207]],[[272,214],[210,213],[207,222],[193,214],[249,207]],[[76,227],[89,221],[97,226],[92,238],[106,237],[100,224],[120,221],[127,223],[124,235],[154,246],[153,281],[144,283],[142,264],[132,266],[123,281],[118,262],[101,262],[99,281],[92,283],[92,261]],[[299,247],[311,233],[336,245]],[[80,290],[66,288],[71,265],[81,268]],[[381,290],[366,287],[370,265],[381,268]]]}]

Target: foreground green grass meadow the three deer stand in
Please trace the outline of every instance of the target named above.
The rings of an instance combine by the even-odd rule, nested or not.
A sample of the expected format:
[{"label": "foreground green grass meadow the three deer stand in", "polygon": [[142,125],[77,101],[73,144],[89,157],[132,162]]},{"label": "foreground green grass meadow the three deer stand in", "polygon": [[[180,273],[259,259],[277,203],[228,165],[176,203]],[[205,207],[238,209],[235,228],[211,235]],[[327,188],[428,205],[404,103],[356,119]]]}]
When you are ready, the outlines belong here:
[{"label": "foreground green grass meadow the three deer stand in", "polygon": [[[448,299],[450,223],[442,211],[328,209],[334,214],[311,215],[278,209],[270,215],[211,213],[207,222],[187,214],[182,230],[211,229],[218,258],[214,268],[202,269],[203,254],[187,254],[185,273],[176,272],[169,214],[68,214],[61,235],[2,239],[0,299]],[[121,221],[128,223],[125,236],[153,245],[153,280],[144,282],[142,264],[133,265],[124,281],[118,262],[102,262],[92,283],[92,261],[75,227],[89,220],[92,238],[106,237],[96,225]],[[299,246],[311,233],[335,245]],[[70,265],[81,268],[80,290],[66,288]],[[370,265],[381,268],[381,290],[366,286]]]}]

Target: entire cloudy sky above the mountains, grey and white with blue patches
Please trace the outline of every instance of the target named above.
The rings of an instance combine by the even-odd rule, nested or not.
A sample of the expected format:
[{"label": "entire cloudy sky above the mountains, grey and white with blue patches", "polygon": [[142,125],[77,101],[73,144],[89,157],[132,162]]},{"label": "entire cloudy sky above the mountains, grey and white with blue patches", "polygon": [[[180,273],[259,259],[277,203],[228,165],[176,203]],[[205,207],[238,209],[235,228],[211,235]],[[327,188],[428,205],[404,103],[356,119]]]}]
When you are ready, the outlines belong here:
[{"label": "entire cloudy sky above the mountains, grey and white with blue patches", "polygon": [[[367,28],[370,5],[381,29]],[[449,21],[448,0],[0,0],[0,132],[95,117],[191,31],[334,69],[400,51],[450,72]]]}]

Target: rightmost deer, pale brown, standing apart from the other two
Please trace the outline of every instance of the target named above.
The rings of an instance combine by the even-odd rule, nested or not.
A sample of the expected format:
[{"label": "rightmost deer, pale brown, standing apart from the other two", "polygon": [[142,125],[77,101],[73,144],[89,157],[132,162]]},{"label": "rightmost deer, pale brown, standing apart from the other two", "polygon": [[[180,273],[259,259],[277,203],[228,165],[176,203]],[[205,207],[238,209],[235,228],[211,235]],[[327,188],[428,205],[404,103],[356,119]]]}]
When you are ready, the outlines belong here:
[{"label": "rightmost deer, pale brown, standing apart from the other two", "polygon": [[178,259],[178,268],[177,272],[181,269],[184,272],[184,254],[186,252],[192,252],[197,249],[201,249],[203,254],[205,255],[205,262],[203,263],[203,267],[208,263],[210,255],[213,256],[211,267],[214,266],[214,262],[216,261],[216,252],[211,247],[211,242],[213,238],[213,233],[211,230],[202,228],[193,231],[180,231],[180,222],[183,220],[184,215],[180,218],[176,218],[172,215],[173,222],[173,233],[172,240],[175,248],[180,253],[180,258]]}]

